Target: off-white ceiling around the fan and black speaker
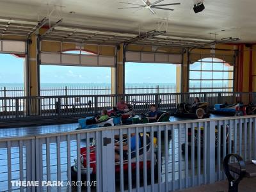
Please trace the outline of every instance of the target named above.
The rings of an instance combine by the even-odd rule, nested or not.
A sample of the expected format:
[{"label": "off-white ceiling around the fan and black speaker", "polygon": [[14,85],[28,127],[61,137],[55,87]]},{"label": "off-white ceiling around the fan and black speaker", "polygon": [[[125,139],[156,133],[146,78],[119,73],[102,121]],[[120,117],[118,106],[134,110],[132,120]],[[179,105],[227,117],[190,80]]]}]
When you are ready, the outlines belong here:
[{"label": "off-white ceiling around the fan and black speaker", "polygon": [[168,19],[170,36],[212,40],[232,36],[241,38],[243,42],[256,42],[255,0],[205,0],[205,10],[201,13],[193,12],[193,4],[198,0],[164,0],[163,3],[181,4],[170,6],[175,9],[173,12],[156,10],[156,15],[152,15],[147,8],[138,12],[134,12],[136,9],[118,10],[129,7],[119,1],[142,4],[141,0],[1,0],[0,19],[36,21],[47,12],[58,10],[52,12],[51,19],[62,17],[61,26],[126,33],[157,29],[158,22]]}]

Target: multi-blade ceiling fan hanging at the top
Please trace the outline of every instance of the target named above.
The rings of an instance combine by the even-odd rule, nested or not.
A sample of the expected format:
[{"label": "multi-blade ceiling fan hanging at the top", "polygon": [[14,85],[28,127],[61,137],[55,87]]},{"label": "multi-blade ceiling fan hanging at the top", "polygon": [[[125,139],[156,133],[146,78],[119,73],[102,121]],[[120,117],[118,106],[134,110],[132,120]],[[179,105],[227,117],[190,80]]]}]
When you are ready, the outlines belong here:
[{"label": "multi-blade ceiling fan hanging at the top", "polygon": [[[150,3],[149,0],[145,1],[145,0],[141,0],[143,4],[136,4],[136,3],[126,3],[126,2],[119,2],[119,3],[123,3],[123,4],[131,4],[131,5],[136,5],[136,6],[129,6],[129,7],[124,7],[124,8],[118,8],[119,10],[122,9],[131,9],[131,8],[140,8],[139,10],[142,10],[143,8],[147,8],[148,10],[150,10],[150,12],[152,14],[156,14],[156,12],[153,9],[159,9],[159,10],[168,10],[168,11],[173,11],[173,9],[170,8],[164,8],[164,6],[170,6],[170,5],[177,5],[180,3],[167,3],[167,4],[159,4],[164,0],[157,0],[153,3]],[[137,10],[137,11],[139,11]]]}]

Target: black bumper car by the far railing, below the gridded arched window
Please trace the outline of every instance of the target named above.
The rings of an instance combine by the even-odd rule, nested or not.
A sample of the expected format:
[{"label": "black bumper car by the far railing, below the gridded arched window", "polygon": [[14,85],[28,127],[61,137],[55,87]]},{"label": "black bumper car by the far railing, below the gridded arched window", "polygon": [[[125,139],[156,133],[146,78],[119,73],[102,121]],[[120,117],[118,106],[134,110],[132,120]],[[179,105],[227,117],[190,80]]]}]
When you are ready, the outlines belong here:
[{"label": "black bumper car by the far railing, below the gridded arched window", "polygon": [[205,111],[204,118],[209,118],[211,114],[209,113],[208,103],[199,102],[193,106],[188,102],[180,103],[177,106],[176,113],[173,113],[173,116],[181,118],[197,118],[196,109],[202,108]]}]

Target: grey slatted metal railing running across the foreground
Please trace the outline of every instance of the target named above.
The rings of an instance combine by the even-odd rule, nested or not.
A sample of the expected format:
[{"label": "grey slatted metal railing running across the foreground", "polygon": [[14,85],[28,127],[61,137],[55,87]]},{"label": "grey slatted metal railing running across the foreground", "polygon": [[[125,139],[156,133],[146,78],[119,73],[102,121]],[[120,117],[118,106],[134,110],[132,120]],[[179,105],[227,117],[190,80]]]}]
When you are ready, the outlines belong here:
[{"label": "grey slatted metal railing running across the foreground", "polygon": [[[115,139],[124,134],[127,152],[120,150],[118,157]],[[123,145],[120,142],[120,148]],[[92,146],[85,150],[90,156],[81,158],[80,148],[86,146]],[[0,152],[0,191],[23,191],[12,186],[15,180],[63,181],[60,188],[27,187],[26,191],[81,191],[68,185],[71,180],[86,180],[87,191],[174,191],[225,179],[222,162],[227,154],[237,153],[244,161],[256,159],[256,116],[1,138]],[[90,168],[84,170],[81,164]],[[90,187],[92,181],[96,187]]]}]

